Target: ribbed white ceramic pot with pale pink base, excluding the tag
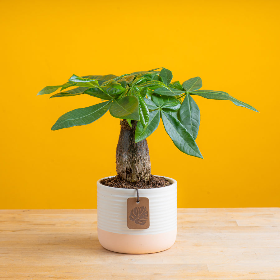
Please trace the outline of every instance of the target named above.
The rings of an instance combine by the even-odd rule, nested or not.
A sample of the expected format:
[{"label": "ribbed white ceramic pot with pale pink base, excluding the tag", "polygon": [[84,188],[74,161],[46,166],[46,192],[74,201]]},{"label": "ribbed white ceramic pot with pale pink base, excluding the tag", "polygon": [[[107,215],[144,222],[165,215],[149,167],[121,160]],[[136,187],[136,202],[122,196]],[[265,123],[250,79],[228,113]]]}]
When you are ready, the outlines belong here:
[{"label": "ribbed white ceramic pot with pale pink base, excluding the tag", "polygon": [[[110,177],[108,177],[110,178]],[[149,199],[150,226],[129,229],[127,199],[137,197],[136,189],[108,187],[97,181],[97,228],[100,244],[110,251],[147,254],[170,248],[177,234],[177,182],[156,189],[138,189],[139,197]]]}]

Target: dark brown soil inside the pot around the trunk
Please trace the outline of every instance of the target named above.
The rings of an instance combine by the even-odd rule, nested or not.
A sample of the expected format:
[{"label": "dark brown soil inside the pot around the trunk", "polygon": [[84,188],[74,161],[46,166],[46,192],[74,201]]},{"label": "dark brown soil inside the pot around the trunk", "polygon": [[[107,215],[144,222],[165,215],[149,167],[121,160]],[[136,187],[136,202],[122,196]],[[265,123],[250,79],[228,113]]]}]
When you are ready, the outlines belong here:
[{"label": "dark brown soil inside the pot around the trunk", "polygon": [[123,189],[153,189],[171,185],[171,183],[163,177],[157,177],[153,175],[151,175],[151,179],[149,182],[141,180],[135,183],[129,183],[116,176],[113,178],[101,180],[100,183],[105,186]]}]

